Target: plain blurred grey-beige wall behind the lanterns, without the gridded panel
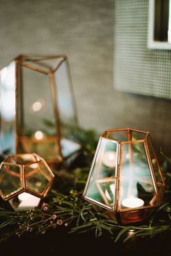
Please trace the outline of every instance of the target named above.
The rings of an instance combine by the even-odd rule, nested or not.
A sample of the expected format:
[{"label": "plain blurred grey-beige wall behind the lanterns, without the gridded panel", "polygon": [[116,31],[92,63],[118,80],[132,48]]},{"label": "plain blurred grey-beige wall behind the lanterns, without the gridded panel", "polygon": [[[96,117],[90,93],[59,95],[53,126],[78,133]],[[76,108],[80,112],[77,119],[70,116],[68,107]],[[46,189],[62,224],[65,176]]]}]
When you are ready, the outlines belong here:
[{"label": "plain blurred grey-beige wall behind the lanterns, without the gridded panel", "polygon": [[[135,13],[142,8],[143,15],[142,3],[147,3],[141,0],[1,0],[0,68],[20,53],[67,54],[78,119],[83,128],[95,128],[99,133],[106,128],[149,130],[157,149],[162,146],[171,156],[170,100],[114,89],[113,70],[118,68],[116,62],[113,65],[117,50],[114,53],[114,26],[117,25],[114,25],[114,4],[119,2],[125,4],[125,15],[133,15],[132,8]],[[146,30],[146,24],[141,24],[142,30]],[[141,51],[141,46],[136,51]],[[120,75],[124,75],[123,70]]]}]

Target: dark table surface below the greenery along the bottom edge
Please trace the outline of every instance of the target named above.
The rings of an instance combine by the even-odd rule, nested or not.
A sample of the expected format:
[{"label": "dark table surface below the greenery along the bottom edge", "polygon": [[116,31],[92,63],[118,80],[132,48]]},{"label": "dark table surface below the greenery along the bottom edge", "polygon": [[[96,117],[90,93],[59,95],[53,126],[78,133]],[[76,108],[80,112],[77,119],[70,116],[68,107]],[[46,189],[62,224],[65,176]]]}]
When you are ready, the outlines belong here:
[{"label": "dark table surface below the greenery along the bottom edge", "polygon": [[[60,230],[61,229],[61,230]],[[2,234],[1,234],[2,235]],[[13,237],[0,244],[0,256],[56,256],[56,255],[116,255],[165,256],[171,255],[171,234],[154,238],[133,238],[125,243],[114,243],[108,235],[96,238],[94,234],[67,234],[64,227],[43,235]]]}]

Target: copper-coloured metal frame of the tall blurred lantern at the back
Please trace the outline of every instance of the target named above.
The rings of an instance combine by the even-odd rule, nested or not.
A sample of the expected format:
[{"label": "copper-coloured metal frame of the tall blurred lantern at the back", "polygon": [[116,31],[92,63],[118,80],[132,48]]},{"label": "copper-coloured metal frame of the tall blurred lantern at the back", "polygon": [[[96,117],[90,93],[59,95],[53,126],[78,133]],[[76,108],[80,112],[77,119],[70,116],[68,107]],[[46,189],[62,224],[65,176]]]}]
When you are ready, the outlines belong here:
[{"label": "copper-coloured metal frame of the tall blurred lantern at the back", "polygon": [[[57,65],[53,67],[46,63],[49,60],[57,59]],[[57,106],[57,87],[55,86],[54,73],[57,72],[59,67],[61,67],[62,63],[66,64],[67,67],[67,75],[70,81],[70,96],[72,101],[72,107],[74,112],[74,122],[78,124],[78,114],[77,108],[75,104],[75,97],[73,94],[73,86],[72,79],[70,75],[70,67],[68,64],[67,56],[64,54],[57,55],[41,55],[41,54],[20,54],[16,58],[12,60],[15,65],[15,75],[14,75],[14,83],[15,83],[15,118],[14,118],[14,152],[16,154],[20,153],[32,153],[28,150],[27,143],[36,142],[37,140],[34,138],[28,138],[25,136],[25,125],[24,125],[24,103],[23,103],[23,88],[22,88],[22,67],[26,67],[30,70],[34,70],[42,75],[46,75],[49,78],[49,86],[51,91],[51,102],[54,112],[54,121],[56,127],[57,136],[46,136],[46,138],[41,139],[41,142],[55,142],[55,146],[57,146],[57,151],[59,155],[57,159],[49,160],[46,159],[46,162],[49,164],[63,162],[64,157],[62,155],[62,149],[60,141],[62,139],[62,131],[60,125],[60,117],[59,110]],[[29,64],[28,64],[29,63]],[[33,65],[32,65],[33,64]],[[6,65],[7,66],[7,65]],[[0,128],[1,128],[1,118],[0,118]],[[20,145],[22,144],[22,151],[20,150]]]}]

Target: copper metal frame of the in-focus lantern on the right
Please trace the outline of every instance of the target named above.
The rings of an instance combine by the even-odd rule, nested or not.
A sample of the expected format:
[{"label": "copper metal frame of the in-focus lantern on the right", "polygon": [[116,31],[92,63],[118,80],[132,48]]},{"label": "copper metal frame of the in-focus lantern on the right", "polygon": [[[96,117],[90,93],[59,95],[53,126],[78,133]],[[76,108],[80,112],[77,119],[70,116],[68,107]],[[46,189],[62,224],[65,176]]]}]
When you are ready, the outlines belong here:
[{"label": "copper metal frame of the in-focus lantern on the right", "polygon": [[[110,139],[109,138],[109,134],[113,133],[113,132],[126,132],[127,133],[127,141],[119,141],[117,139]],[[132,139],[132,132],[135,133],[140,133],[143,134],[144,139]],[[93,175],[93,167],[95,165],[96,162],[96,158],[99,155],[99,148],[101,146],[101,140],[102,139],[106,139],[109,141],[112,141],[114,144],[117,145],[117,149],[116,149],[116,166],[115,166],[115,175],[111,176],[111,177],[107,177],[107,178],[98,178],[99,177],[99,170],[100,170],[100,165],[101,162],[99,161],[99,163],[97,165],[99,165],[99,167],[96,168],[96,172],[94,174],[95,178],[95,183],[96,183],[96,187],[99,190],[99,194],[101,195],[101,198],[104,200],[104,203],[98,202],[96,199],[90,198],[86,195],[87,191],[88,191],[88,185],[91,181],[91,176]],[[151,155],[149,152],[149,146],[147,144],[147,140],[149,140],[151,142],[151,149],[153,151],[154,154],[154,159],[156,161],[157,164],[157,169],[159,171],[159,176],[161,178],[161,182],[157,181],[157,178],[155,176],[154,173],[154,168],[151,162]],[[129,154],[130,154],[130,165],[133,165],[133,144],[138,144],[141,143],[143,144],[143,148],[145,150],[146,153],[146,160],[148,161],[148,165],[149,165],[149,169],[150,169],[150,173],[151,173],[151,183],[154,185],[154,192],[155,192],[155,197],[153,197],[151,199],[151,202],[149,202],[149,205],[146,206],[141,206],[141,207],[133,207],[133,208],[126,208],[126,209],[122,209],[120,207],[120,186],[121,186],[121,181],[120,181],[120,177],[121,177],[121,170],[122,170],[122,145],[128,144],[128,149],[129,149]],[[101,154],[104,153],[104,148],[101,149]],[[144,182],[148,182],[146,181],[146,178],[141,178],[142,181]],[[108,183],[108,182],[113,182],[115,181],[115,188],[114,191],[112,191],[112,193],[114,194],[114,201],[112,202],[112,207],[109,207],[109,202],[107,199],[107,196],[104,194],[104,191],[101,189],[101,186],[99,186],[100,183]],[[164,178],[162,176],[162,171],[159,167],[159,162],[157,160],[157,154],[154,150],[154,145],[151,141],[151,136],[149,134],[149,131],[140,131],[140,130],[136,130],[136,129],[130,129],[130,128],[120,128],[120,129],[107,129],[99,138],[99,143],[96,147],[96,153],[93,157],[93,162],[91,165],[91,170],[88,174],[88,179],[86,182],[86,186],[85,189],[83,191],[83,199],[85,199],[86,201],[93,203],[93,205],[96,205],[97,207],[100,207],[100,209],[106,209],[105,213],[109,216],[109,218],[112,218],[114,220],[117,220],[118,223],[123,223],[122,222],[122,218],[121,218],[121,214],[127,214],[128,212],[138,212],[139,210],[152,210],[155,209],[157,207],[159,207],[162,203],[162,196],[164,194]],[[154,205],[154,201],[156,202],[156,204]],[[137,221],[141,221],[143,220],[143,218],[139,218],[139,220]],[[136,222],[134,220],[130,220],[128,221],[129,223],[131,222]],[[124,223],[125,224],[125,223]]]}]

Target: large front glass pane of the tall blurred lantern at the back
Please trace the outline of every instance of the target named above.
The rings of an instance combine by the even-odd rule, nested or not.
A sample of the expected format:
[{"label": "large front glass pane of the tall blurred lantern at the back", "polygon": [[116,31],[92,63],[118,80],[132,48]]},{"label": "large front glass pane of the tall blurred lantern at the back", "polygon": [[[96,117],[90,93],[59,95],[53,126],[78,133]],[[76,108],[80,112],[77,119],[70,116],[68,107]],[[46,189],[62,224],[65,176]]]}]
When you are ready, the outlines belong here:
[{"label": "large front glass pane of the tall blurred lantern at the back", "polygon": [[21,74],[20,152],[36,152],[46,160],[61,160],[49,77],[27,67],[22,67]]}]

